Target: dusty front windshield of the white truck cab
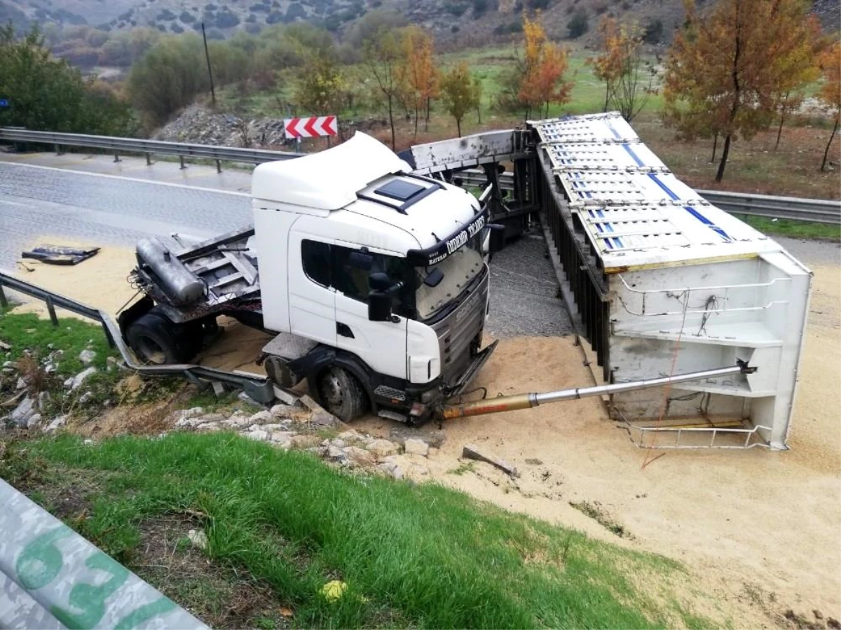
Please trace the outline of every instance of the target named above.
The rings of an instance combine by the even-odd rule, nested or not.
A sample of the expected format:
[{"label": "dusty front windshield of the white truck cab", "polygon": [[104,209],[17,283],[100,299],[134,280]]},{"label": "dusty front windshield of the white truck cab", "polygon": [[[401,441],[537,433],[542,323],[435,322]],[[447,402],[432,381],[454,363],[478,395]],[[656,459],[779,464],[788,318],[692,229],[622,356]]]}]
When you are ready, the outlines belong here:
[{"label": "dusty front windshield of the white truck cab", "polygon": [[[482,241],[485,230],[468,240],[460,249],[447,256],[440,263],[428,267],[415,267],[417,276],[417,292],[415,302],[418,316],[421,319],[431,318],[436,312],[447,306],[449,302],[458,297],[464,288],[473,281],[484,265],[484,252]],[[443,279],[437,286],[424,284],[424,279],[433,270],[439,270]]]}]

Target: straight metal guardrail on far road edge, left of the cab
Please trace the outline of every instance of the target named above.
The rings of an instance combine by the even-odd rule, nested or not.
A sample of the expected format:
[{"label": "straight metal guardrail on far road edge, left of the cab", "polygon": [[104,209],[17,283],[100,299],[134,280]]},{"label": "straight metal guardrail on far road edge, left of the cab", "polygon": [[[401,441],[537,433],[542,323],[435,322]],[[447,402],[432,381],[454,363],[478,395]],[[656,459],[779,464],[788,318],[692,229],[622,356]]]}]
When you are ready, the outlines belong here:
[{"label": "straight metal guardrail on far road edge, left of the cab", "polygon": [[50,144],[56,148],[56,153],[61,153],[61,147],[102,149],[114,153],[116,160],[119,160],[120,154],[145,154],[147,163],[151,163],[151,155],[176,155],[181,160],[182,167],[186,158],[216,160],[217,168],[220,168],[221,161],[262,164],[263,162],[290,160],[304,155],[302,153],[241,149],[239,147],[213,146],[211,144],[112,138],[103,135],[58,134],[50,131],[30,131],[29,129],[9,129],[8,127],[0,128],[0,140]]}]

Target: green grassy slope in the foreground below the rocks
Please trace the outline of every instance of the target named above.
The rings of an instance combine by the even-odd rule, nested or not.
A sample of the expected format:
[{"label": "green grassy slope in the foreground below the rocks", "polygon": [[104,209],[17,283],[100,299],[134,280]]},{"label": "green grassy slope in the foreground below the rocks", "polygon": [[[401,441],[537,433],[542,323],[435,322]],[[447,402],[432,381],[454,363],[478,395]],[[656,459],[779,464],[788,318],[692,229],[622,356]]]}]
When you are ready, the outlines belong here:
[{"label": "green grassy slope in the foreground below the rocks", "polygon": [[[265,610],[291,612],[283,627],[710,627],[674,598],[637,589],[680,576],[668,559],[441,486],[346,475],[309,454],[230,434],[40,438],[10,444],[0,475],[54,510],[51,497],[66,500],[68,487],[81,486],[80,501],[61,516],[206,617],[228,588],[219,580],[240,576],[264,594],[264,612],[230,627],[280,627]],[[207,584],[144,568],[154,564],[144,555],[148,533],[184,518],[207,533],[215,572]],[[171,555],[185,553],[177,540]],[[333,602],[319,594],[330,580],[347,585]]]}]

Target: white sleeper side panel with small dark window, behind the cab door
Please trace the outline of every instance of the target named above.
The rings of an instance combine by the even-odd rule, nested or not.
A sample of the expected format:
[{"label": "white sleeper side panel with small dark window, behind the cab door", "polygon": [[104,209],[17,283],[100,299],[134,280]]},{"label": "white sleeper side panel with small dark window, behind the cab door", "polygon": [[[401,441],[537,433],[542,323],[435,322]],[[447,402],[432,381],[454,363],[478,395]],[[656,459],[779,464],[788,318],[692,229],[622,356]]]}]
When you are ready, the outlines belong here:
[{"label": "white sleeper side panel with small dark window, behind the cab door", "polygon": [[[262,282],[287,281],[263,278]],[[331,286],[331,244],[292,234],[288,258],[291,332],[336,346],[336,291]]]}]

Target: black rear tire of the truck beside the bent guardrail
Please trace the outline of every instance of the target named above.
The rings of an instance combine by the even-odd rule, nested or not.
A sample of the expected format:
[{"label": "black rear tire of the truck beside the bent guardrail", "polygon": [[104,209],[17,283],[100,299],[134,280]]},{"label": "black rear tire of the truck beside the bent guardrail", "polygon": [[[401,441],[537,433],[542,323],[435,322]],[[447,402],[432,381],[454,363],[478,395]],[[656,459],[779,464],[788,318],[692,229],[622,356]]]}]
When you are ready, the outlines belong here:
[{"label": "black rear tire of the truck beside the bent guardrail", "polygon": [[125,338],[137,358],[152,365],[186,363],[197,349],[193,331],[172,322],[157,307],[130,323]]}]

